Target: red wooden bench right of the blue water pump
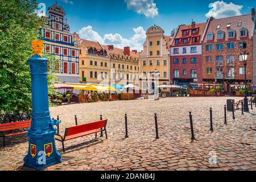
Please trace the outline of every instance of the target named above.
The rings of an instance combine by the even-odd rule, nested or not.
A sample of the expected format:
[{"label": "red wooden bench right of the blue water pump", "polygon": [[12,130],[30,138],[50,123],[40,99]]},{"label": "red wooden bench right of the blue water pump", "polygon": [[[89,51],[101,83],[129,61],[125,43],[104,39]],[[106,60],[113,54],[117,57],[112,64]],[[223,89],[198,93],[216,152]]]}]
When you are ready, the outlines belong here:
[{"label": "red wooden bench right of the blue water pump", "polygon": [[64,142],[80,137],[85,137],[86,135],[94,134],[97,138],[97,133],[105,131],[106,139],[108,139],[108,135],[106,133],[106,124],[108,122],[108,119],[88,123],[84,125],[78,125],[73,127],[68,127],[65,129],[65,134],[62,137],[60,134],[55,135],[55,139],[62,143],[63,152],[65,152]]}]

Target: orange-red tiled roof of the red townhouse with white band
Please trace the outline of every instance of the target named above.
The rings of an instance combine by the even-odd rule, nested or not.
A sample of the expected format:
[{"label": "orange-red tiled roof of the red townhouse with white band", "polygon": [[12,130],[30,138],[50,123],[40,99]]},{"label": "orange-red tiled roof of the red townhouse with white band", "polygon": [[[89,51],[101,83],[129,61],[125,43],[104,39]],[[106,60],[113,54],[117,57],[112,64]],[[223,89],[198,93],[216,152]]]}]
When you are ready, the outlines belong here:
[{"label": "orange-red tiled roof of the red townhouse with white band", "polygon": [[[179,39],[179,38],[191,38],[193,36],[200,36],[200,40],[201,40],[201,37],[203,36],[204,34],[204,30],[205,30],[205,27],[207,26],[207,23],[196,23],[195,24],[195,27],[192,28],[192,24],[188,24],[188,25],[180,25],[177,32],[176,32],[176,36],[174,39]],[[197,32],[197,34],[195,35],[192,35],[191,34],[191,29],[195,29],[195,28],[199,28],[199,32]],[[186,36],[183,36],[183,30],[189,30],[189,33],[188,35]],[[200,43],[200,40],[198,43]],[[197,43],[197,44],[198,44]],[[191,44],[195,44],[195,43],[192,43],[192,41],[190,40],[189,43],[187,44],[183,44],[183,43],[180,43],[179,45],[176,45],[175,44],[175,41],[172,42],[172,46],[187,46],[187,45],[191,45]]]}]

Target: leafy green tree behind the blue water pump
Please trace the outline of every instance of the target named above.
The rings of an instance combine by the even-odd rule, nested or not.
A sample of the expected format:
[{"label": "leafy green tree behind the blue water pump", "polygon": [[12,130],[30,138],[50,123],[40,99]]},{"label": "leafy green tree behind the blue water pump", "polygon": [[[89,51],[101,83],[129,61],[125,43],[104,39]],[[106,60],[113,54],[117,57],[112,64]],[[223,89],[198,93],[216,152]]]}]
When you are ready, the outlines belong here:
[{"label": "leafy green tree behind the blue water pump", "polygon": [[[0,111],[30,113],[27,59],[32,53],[31,40],[38,39],[39,27],[43,27],[42,19],[35,14],[38,4],[36,0],[0,0],[0,5]],[[48,80],[55,78],[50,74]],[[49,81],[49,93],[52,84]]]}]

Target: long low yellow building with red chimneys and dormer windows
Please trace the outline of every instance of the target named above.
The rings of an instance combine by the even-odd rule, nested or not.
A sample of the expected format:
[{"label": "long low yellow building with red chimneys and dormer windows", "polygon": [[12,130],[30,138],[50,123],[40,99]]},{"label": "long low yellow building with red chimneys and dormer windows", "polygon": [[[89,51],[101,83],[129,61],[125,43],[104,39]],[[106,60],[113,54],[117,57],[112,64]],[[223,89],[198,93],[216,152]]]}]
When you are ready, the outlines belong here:
[{"label": "long low yellow building with red chimneys and dormer windows", "polygon": [[98,42],[80,39],[77,33],[73,36],[79,43],[81,83],[123,86],[137,84],[139,75],[137,51],[130,51],[130,47],[120,49],[113,45],[105,46]]}]

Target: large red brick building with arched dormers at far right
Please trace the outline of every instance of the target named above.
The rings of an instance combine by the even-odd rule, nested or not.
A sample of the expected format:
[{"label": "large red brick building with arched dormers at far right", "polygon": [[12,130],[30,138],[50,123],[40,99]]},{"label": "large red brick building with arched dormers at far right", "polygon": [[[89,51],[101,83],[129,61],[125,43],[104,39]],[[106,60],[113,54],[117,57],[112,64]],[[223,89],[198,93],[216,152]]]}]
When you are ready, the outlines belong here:
[{"label": "large red brick building with arched dormers at far right", "polygon": [[[255,13],[255,10],[252,11]],[[252,14],[228,18],[210,18],[203,40],[202,76],[207,84],[223,84],[225,91],[238,92],[243,88],[245,69],[240,54],[249,53],[246,79],[253,79],[253,32]]]}]

